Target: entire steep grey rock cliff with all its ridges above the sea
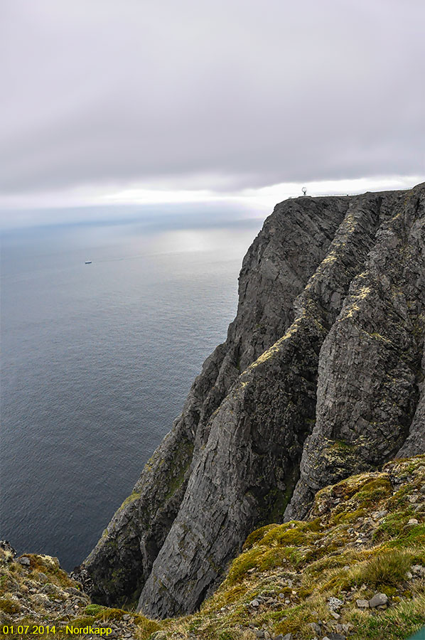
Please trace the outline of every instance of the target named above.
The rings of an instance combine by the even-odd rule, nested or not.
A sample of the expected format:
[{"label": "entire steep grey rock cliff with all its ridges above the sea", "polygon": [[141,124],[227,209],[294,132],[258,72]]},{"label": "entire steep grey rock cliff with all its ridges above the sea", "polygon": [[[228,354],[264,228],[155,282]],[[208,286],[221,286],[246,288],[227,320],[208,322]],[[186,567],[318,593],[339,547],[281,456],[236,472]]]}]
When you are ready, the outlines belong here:
[{"label": "entire steep grey rock cliff with all its ridges above the sea", "polygon": [[424,451],[424,201],[421,185],[276,206],[227,341],[85,562],[94,599],[193,611],[256,526]]}]

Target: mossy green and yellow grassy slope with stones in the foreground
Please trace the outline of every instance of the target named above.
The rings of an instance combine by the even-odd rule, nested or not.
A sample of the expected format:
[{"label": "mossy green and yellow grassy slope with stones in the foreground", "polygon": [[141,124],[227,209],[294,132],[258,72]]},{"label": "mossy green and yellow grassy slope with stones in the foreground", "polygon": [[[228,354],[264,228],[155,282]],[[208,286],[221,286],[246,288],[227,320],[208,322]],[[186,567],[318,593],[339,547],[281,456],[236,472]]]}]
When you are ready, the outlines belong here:
[{"label": "mossy green and yellow grassy slope with stones in the foreground", "polygon": [[[131,614],[131,632],[140,640],[153,633],[155,640],[249,640],[262,634],[267,640],[289,632],[311,640],[331,631],[353,640],[404,640],[425,624],[425,572],[411,570],[425,566],[424,521],[424,455],[353,476],[319,491],[308,521],[271,524],[249,535],[200,612],[161,622]],[[0,580],[4,585],[8,579]],[[0,609],[11,599],[1,588]],[[357,599],[377,592],[389,597],[387,609],[357,607]],[[343,603],[335,615],[330,597]],[[258,606],[249,604],[254,599]],[[72,621],[119,621],[125,613],[90,604]]]}]

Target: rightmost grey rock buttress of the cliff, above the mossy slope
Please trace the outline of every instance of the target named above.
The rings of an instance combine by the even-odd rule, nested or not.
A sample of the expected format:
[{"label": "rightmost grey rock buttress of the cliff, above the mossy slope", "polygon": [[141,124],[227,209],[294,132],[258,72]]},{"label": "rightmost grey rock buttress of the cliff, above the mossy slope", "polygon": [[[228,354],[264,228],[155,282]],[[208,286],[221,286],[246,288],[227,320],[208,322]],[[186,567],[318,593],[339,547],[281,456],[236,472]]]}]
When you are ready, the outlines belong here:
[{"label": "rightmost grey rock buttress of the cliff, above the mossy slope", "polygon": [[424,452],[424,192],[416,187],[394,204],[323,343],[316,425],[288,520],[302,518],[322,486],[397,452]]}]

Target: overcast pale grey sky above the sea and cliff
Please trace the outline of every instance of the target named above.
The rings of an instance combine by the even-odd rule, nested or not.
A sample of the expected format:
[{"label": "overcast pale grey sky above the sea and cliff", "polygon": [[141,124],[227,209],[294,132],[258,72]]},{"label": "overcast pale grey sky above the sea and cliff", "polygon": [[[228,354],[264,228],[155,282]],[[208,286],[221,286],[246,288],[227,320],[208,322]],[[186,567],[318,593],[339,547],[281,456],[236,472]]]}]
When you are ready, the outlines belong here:
[{"label": "overcast pale grey sky above the sea and cliff", "polygon": [[424,179],[423,0],[0,6],[8,210]]}]

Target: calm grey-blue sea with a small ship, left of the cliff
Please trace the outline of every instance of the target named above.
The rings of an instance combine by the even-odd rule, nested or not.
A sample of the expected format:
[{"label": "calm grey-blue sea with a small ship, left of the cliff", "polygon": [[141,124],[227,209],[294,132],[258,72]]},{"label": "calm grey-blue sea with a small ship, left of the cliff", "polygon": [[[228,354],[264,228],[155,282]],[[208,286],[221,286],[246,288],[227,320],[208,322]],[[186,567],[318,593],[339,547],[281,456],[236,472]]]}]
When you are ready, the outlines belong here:
[{"label": "calm grey-blue sea with a small ship, left of the cliff", "polygon": [[20,552],[85,558],[225,339],[261,221],[180,226],[4,233],[0,535]]}]

